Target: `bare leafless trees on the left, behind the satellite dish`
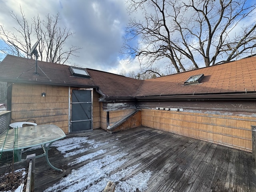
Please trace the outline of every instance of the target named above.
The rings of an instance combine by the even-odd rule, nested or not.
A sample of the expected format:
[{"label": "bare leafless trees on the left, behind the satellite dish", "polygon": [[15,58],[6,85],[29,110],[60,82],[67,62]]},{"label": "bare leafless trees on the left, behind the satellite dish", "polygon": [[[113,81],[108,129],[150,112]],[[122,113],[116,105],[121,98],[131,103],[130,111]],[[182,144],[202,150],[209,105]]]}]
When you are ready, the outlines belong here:
[{"label": "bare leafless trees on the left, behind the satellite dish", "polygon": [[21,52],[28,53],[36,40],[41,38],[40,44],[37,46],[40,60],[65,64],[71,56],[78,56],[80,47],[66,46],[66,41],[74,35],[74,32],[66,27],[58,26],[59,13],[47,14],[44,20],[37,16],[28,22],[20,8],[20,16],[12,11],[10,16],[16,21],[18,27],[14,27],[14,32],[10,32],[4,30],[4,26],[0,25],[0,39],[7,44],[6,47],[0,48],[2,52],[28,57]]}]

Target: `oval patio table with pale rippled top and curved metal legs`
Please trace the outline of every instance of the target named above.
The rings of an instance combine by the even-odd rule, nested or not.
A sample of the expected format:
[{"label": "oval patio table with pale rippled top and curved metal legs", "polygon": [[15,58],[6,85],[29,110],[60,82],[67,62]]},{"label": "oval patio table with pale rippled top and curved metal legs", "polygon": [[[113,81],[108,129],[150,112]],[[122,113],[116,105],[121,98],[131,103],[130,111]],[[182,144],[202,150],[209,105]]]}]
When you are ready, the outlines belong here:
[{"label": "oval patio table with pale rippled top and curved metal legs", "polygon": [[[62,171],[54,167],[48,159],[48,150],[51,144],[66,137],[65,133],[56,125],[37,125],[26,126],[22,129],[9,129],[0,135],[0,152],[16,151],[18,160],[21,160],[20,150],[41,145],[44,150],[43,154],[35,158],[45,157],[48,165],[57,171]],[[46,144],[48,144],[46,146]]]}]

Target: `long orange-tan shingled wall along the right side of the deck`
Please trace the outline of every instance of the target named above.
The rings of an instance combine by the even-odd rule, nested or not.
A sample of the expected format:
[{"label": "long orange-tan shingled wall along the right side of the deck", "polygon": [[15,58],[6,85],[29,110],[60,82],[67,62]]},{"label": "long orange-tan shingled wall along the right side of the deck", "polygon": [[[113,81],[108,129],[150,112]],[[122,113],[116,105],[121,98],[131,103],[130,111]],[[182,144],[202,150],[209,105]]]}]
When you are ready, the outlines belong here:
[{"label": "long orange-tan shingled wall along the right side of the deck", "polygon": [[256,118],[229,114],[142,109],[142,125],[252,152]]}]

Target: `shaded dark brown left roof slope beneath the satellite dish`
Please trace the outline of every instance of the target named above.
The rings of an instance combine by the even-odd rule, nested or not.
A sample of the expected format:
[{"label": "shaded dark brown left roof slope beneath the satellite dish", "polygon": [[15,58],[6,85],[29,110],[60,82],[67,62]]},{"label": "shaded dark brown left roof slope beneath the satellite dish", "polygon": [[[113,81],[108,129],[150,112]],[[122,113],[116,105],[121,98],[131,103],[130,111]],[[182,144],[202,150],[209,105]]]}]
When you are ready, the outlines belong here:
[{"label": "shaded dark brown left roof slope beneath the satellite dish", "polygon": [[70,66],[43,61],[38,61],[37,76],[34,66],[35,60],[7,55],[0,63],[0,81],[98,88],[106,97],[133,97],[142,84],[142,80],[92,69],[86,69],[90,78],[73,77]]}]

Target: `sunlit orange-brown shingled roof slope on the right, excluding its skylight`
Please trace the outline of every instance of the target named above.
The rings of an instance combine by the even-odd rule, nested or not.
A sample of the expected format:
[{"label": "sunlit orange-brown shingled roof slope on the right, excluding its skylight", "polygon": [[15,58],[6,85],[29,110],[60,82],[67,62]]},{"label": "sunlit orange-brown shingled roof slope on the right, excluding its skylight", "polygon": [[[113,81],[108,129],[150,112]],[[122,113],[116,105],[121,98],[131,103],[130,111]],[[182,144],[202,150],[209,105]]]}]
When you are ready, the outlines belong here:
[{"label": "sunlit orange-brown shingled roof slope on the right, excluding its skylight", "polygon": [[[137,96],[249,93],[256,91],[256,57],[218,64],[179,74],[145,80]],[[199,84],[184,85],[193,75],[204,74]]]}]

